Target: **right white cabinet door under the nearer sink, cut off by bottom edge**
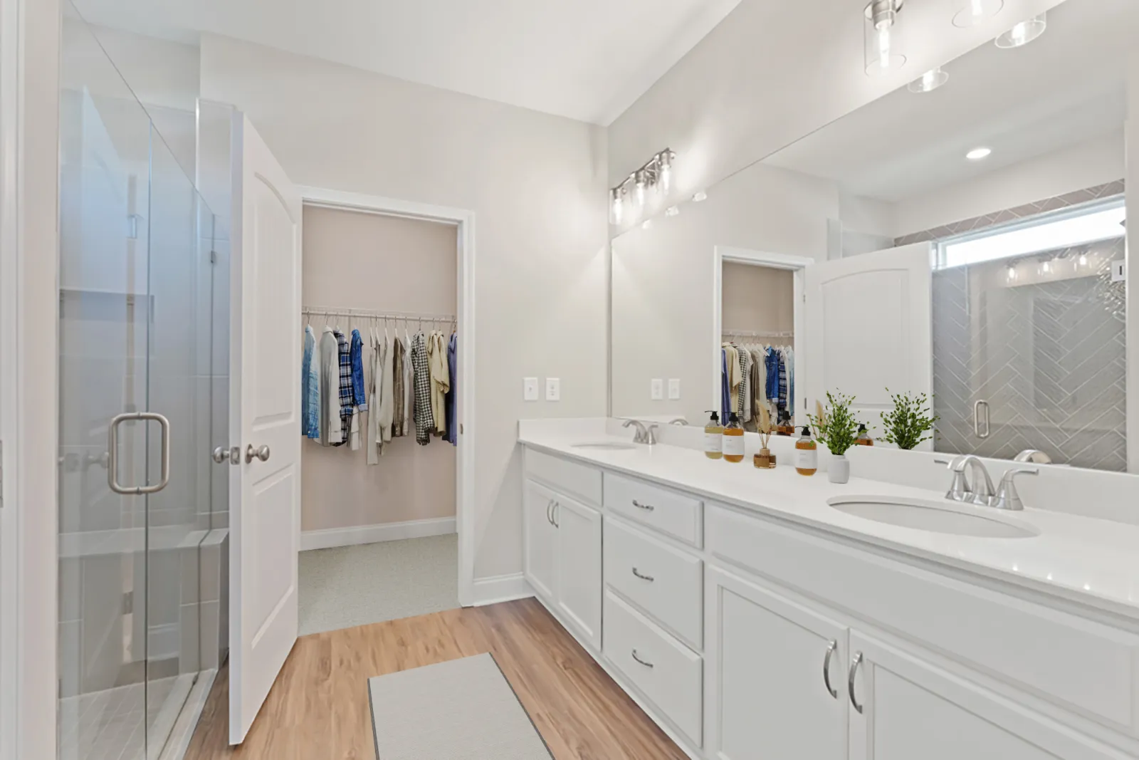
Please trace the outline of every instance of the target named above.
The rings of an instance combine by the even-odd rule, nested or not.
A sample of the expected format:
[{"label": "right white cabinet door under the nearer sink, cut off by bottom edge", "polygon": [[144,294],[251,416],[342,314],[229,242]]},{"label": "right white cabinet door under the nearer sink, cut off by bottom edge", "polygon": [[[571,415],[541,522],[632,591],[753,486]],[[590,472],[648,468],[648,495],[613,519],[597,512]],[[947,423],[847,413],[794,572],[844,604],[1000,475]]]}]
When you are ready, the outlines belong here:
[{"label": "right white cabinet door under the nearer sink, cut off by bottom edge", "polygon": [[870,636],[851,631],[850,645],[853,677],[841,676],[849,692],[850,760],[1123,757]]}]

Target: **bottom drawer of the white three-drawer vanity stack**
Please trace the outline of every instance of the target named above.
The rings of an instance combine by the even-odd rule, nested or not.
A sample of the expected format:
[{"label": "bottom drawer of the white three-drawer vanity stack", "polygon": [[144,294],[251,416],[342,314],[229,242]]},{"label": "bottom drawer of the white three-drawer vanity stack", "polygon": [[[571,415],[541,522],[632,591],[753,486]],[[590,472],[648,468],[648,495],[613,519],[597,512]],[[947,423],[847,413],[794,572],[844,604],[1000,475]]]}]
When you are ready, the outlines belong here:
[{"label": "bottom drawer of the white three-drawer vanity stack", "polygon": [[605,656],[696,746],[703,742],[704,661],[647,618],[605,593]]}]

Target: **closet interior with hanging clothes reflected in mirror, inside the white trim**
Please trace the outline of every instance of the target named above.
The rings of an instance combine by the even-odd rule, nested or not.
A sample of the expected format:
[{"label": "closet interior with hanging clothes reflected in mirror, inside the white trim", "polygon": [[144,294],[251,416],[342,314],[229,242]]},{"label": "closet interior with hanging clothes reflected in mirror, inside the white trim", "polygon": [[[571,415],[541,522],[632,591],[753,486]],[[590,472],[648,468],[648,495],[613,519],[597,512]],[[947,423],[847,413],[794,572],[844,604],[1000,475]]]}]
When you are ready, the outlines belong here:
[{"label": "closet interior with hanging clothes reflected in mirror, inside the white trim", "polygon": [[795,422],[794,283],[794,272],[788,269],[722,263],[721,350],[731,346],[746,356],[739,374],[729,369],[727,377],[721,375],[721,395],[727,386],[729,403],[724,408],[721,401],[720,414],[739,414],[748,431],[756,430],[760,404],[767,406],[772,423],[790,427]]}]

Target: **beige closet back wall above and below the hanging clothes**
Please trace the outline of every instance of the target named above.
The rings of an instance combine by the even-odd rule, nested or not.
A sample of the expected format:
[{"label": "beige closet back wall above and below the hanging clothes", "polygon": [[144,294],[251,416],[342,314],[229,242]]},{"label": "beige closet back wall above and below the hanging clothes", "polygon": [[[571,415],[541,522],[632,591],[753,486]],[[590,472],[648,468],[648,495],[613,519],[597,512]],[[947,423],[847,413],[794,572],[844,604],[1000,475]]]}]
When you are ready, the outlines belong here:
[{"label": "beige closet back wall above and below the hanging clothes", "polygon": [[[453,226],[333,209],[304,209],[304,305],[453,314],[458,301]],[[369,365],[368,320],[333,319],[360,329]],[[323,320],[310,322],[318,340]],[[412,322],[415,334],[417,325]],[[393,333],[404,325],[391,326]],[[425,326],[426,329],[426,326]],[[450,329],[450,326],[445,328]],[[454,516],[456,450],[432,439],[395,439],[378,465],[367,450],[305,441],[301,456],[301,530],[355,528]]]}]

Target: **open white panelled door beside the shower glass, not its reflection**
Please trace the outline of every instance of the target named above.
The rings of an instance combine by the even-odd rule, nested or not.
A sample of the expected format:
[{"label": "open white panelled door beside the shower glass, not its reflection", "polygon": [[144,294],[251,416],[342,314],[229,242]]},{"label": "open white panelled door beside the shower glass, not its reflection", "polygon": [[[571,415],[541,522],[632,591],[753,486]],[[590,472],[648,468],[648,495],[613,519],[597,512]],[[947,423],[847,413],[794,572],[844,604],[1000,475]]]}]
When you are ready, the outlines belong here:
[{"label": "open white panelled door beside the shower glass, not its reflection", "polygon": [[244,116],[233,155],[229,741],[239,744],[297,635],[301,195]]}]

